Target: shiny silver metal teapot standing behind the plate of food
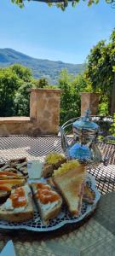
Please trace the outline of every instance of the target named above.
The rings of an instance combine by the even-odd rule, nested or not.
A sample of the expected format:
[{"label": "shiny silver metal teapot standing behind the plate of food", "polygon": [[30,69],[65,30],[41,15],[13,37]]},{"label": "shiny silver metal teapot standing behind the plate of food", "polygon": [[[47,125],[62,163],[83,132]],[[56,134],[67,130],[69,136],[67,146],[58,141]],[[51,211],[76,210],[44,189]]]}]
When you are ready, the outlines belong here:
[{"label": "shiny silver metal teapot standing behind the plate of food", "polygon": [[101,150],[97,145],[97,137],[100,134],[100,126],[91,121],[90,110],[87,109],[80,119],[71,123],[73,139],[68,143],[65,126],[60,127],[61,146],[68,159],[78,159],[86,163],[101,163],[106,165],[107,159],[102,159]]}]

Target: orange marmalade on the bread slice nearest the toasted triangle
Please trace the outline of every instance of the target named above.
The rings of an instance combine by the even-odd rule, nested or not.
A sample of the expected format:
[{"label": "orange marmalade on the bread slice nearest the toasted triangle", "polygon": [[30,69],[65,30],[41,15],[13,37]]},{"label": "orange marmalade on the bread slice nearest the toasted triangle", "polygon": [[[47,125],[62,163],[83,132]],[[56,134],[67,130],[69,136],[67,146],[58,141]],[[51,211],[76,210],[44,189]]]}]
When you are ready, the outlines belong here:
[{"label": "orange marmalade on the bread slice nearest the toasted triangle", "polygon": [[53,191],[49,185],[44,183],[37,183],[37,192],[36,198],[41,201],[43,204],[52,203],[60,199],[60,196]]}]

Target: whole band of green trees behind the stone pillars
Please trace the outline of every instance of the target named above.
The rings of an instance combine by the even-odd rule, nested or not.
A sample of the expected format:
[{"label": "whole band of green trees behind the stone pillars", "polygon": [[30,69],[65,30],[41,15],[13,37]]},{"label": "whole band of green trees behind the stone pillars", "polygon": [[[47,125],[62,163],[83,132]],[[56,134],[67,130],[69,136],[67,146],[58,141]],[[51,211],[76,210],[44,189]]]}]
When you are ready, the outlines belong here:
[{"label": "whole band of green trees behind the stone pillars", "polygon": [[[95,45],[88,56],[86,71],[73,76],[66,69],[60,72],[58,84],[62,90],[60,101],[60,123],[80,116],[80,93],[98,91],[101,93],[99,112],[109,114],[109,105],[115,84],[115,29],[110,41]],[[54,88],[48,80],[33,79],[30,69],[14,64],[0,69],[0,116],[29,115],[28,88]],[[56,87],[56,88],[57,88]]]}]

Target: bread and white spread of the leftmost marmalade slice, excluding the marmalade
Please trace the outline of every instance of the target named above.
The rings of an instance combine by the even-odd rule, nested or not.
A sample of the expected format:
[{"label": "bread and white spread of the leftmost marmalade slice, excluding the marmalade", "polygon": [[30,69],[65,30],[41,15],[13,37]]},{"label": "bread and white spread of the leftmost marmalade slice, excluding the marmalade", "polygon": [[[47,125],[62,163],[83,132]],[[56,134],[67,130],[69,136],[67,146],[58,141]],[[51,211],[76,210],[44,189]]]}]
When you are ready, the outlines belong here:
[{"label": "bread and white spread of the leftmost marmalade slice, excluding the marmalade", "polygon": [[[24,188],[24,186],[21,188]],[[33,218],[31,190],[30,192],[26,193],[26,197],[27,203],[25,207],[13,207],[13,209],[11,199],[7,199],[7,201],[0,207],[0,218],[8,222],[23,222]]]}]

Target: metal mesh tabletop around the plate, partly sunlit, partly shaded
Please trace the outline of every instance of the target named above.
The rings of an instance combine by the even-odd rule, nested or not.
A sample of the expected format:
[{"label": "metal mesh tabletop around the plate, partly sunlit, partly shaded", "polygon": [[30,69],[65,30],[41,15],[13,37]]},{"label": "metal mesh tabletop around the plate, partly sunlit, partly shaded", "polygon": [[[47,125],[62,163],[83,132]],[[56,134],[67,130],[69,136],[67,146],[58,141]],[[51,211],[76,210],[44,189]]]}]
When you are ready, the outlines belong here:
[{"label": "metal mesh tabletop around the plate, partly sunlit, partly shaded", "polygon": [[[111,144],[99,143],[103,156],[114,150]],[[60,137],[0,137],[0,161],[26,156],[28,160],[42,159],[49,151],[61,152]],[[9,239],[14,242],[16,255],[115,255],[115,156],[108,166],[102,164],[88,169],[95,176],[101,201],[89,220],[80,227],[68,225],[66,230],[50,233],[0,230],[0,250]]]}]

